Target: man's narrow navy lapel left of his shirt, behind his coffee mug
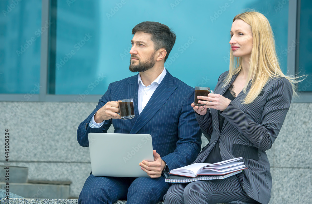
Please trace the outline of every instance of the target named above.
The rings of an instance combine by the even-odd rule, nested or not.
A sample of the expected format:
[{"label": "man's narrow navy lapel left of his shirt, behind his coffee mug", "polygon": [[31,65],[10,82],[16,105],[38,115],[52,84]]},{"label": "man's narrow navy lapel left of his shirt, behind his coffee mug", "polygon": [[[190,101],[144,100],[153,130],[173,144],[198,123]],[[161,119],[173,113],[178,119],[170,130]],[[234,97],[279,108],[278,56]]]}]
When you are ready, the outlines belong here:
[{"label": "man's narrow navy lapel left of his shirt, behind his coffee mug", "polygon": [[135,121],[139,116],[139,109],[138,109],[138,78],[139,74],[135,75],[134,77],[130,78],[128,82],[125,83],[125,95],[126,98],[133,98],[133,106],[134,106],[134,118],[130,119],[132,126],[134,125]]}]

